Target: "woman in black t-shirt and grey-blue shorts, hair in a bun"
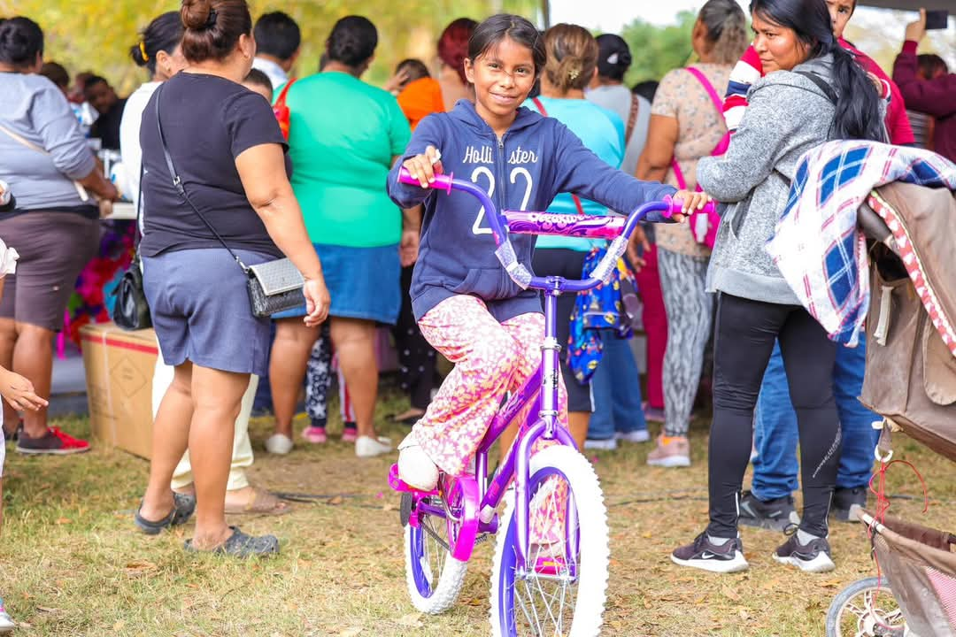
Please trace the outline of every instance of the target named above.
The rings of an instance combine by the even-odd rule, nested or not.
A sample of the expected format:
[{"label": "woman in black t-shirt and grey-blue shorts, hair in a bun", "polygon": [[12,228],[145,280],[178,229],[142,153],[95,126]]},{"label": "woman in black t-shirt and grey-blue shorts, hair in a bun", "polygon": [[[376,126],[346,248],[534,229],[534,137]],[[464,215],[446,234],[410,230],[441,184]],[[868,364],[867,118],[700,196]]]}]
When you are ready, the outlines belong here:
[{"label": "woman in black t-shirt and grey-blue shorts, hair in a bun", "polygon": [[[305,277],[308,315],[325,320],[329,293],[293,196],[286,145],[272,109],[242,87],[255,43],[245,0],[184,0],[189,66],[157,90],[140,133],[143,287],[166,364],[175,368],[153,429],[149,485],[137,525],[182,523],[196,507],[187,550],[246,557],[278,552],[273,536],[231,529],[224,500],[232,428],[250,373],[266,371],[269,319],[252,316],[246,275],[173,183],[160,138],[186,195],[246,265],[287,255]],[[188,448],[196,499],[169,489]]]}]

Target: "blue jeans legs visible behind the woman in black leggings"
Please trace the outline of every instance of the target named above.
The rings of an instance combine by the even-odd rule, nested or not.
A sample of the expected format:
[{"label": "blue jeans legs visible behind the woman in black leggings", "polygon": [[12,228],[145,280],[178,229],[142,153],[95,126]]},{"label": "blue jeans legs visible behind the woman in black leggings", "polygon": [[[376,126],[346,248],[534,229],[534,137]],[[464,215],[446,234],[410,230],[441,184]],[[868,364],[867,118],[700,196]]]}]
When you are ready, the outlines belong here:
[{"label": "blue jeans legs visible behind the woman in black leggings", "polygon": [[[866,348],[862,342],[857,348],[836,350],[834,397],[843,433],[836,475],[838,489],[866,486],[873,472],[873,450],[880,432],[873,429],[872,423],[880,420],[880,416],[858,400],[865,362]],[[791,495],[798,487],[796,446],[799,436],[779,344],[773,346],[771,361],[764,372],[754,417],[754,435],[757,451],[753,460],[754,497],[767,500]]]}]

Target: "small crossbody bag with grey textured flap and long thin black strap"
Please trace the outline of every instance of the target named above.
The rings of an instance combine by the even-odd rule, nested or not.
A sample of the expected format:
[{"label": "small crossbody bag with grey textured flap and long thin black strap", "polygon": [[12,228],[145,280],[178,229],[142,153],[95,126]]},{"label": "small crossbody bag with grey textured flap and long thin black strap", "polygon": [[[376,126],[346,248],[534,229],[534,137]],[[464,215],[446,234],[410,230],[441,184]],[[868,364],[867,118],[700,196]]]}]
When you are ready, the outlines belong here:
[{"label": "small crossbody bag with grey textured flap and long thin black strap", "polygon": [[183,180],[180,178],[176,167],[173,165],[173,159],[169,155],[169,149],[166,147],[166,139],[163,135],[163,122],[160,117],[160,97],[163,92],[161,86],[157,90],[156,96],[156,126],[160,132],[160,144],[163,146],[163,156],[166,159],[166,166],[169,168],[169,175],[173,180],[173,187],[180,197],[184,199],[189,207],[193,209],[196,215],[206,224],[209,231],[216,237],[220,244],[223,244],[228,253],[235,259],[236,264],[242,268],[243,273],[249,279],[247,284],[249,290],[249,303],[252,315],[258,318],[272,316],[276,312],[287,309],[298,308],[305,303],[305,296],[302,294],[302,286],[305,279],[302,273],[296,269],[293,262],[288,258],[267,261],[264,264],[246,265],[242,262],[235,252],[229,248],[223,238],[216,232],[199,208],[189,199],[185,192]]}]

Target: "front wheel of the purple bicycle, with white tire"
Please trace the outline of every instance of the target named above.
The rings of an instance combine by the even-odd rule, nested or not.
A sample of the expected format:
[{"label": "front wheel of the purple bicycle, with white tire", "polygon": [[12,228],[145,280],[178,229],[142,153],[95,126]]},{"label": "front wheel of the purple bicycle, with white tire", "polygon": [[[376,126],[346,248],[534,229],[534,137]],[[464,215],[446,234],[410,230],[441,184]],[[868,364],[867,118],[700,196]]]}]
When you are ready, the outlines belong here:
[{"label": "front wheel of the purple bicycle, with white tire", "polygon": [[[499,526],[491,568],[491,634],[592,637],[600,631],[610,560],[607,509],[597,474],[571,447],[531,458],[529,525],[553,524],[552,538],[532,532],[527,567],[517,567],[514,502]],[[538,520],[540,518],[541,520]]]}]

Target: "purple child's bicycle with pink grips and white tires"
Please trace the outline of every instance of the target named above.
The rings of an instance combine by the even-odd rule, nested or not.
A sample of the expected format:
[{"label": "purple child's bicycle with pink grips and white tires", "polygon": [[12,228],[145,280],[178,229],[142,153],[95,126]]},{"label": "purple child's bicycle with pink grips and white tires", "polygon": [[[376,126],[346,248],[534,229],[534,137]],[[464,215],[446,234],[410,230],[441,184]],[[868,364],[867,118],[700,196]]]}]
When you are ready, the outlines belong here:
[{"label": "purple child's bicycle with pink grips and white tires", "polygon": [[[399,179],[419,183],[405,170]],[[610,560],[607,509],[594,468],[558,422],[557,297],[607,281],[641,219],[651,211],[676,214],[681,203],[646,203],[627,218],[499,213],[488,194],[470,181],[438,175],[430,186],[448,193],[467,192],[485,206],[495,254],[511,279],[523,288],[544,292],[545,337],[540,367],[491,420],[473,471],[443,474],[433,491],[424,492],[402,482],[398,465],[391,468],[389,484],[402,493],[405,576],[412,604],[432,614],[454,605],[475,544],[497,534],[491,568],[492,634],[597,635]],[[515,257],[509,232],[612,241],[589,278],[571,281],[532,276]],[[532,403],[534,409],[520,423],[508,456],[489,478],[491,445]],[[540,439],[553,443],[532,456],[532,445]],[[497,509],[503,500],[506,506],[499,517]],[[540,527],[541,522],[535,516],[543,516],[552,525],[552,541],[532,537],[532,527]]]}]

